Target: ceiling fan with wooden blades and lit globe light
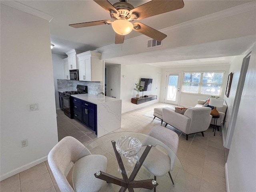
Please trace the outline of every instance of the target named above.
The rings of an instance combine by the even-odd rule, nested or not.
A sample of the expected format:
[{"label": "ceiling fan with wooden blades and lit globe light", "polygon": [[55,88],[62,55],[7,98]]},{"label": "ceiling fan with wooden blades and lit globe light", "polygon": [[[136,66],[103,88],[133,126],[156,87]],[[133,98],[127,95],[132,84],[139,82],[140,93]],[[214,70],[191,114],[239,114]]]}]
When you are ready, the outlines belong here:
[{"label": "ceiling fan with wooden blades and lit globe light", "polygon": [[141,20],[154,15],[170,12],[184,7],[183,0],[151,0],[141,6],[134,8],[127,2],[120,0],[111,4],[108,0],[94,0],[102,8],[110,13],[111,20],[101,20],[85,23],[70,24],[74,28],[89,27],[96,25],[112,24],[116,32],[115,44],[124,42],[124,35],[129,34],[132,30],[140,32],[154,40],[162,41],[167,37],[166,34],[146,26],[140,22],[132,23],[134,20]]}]

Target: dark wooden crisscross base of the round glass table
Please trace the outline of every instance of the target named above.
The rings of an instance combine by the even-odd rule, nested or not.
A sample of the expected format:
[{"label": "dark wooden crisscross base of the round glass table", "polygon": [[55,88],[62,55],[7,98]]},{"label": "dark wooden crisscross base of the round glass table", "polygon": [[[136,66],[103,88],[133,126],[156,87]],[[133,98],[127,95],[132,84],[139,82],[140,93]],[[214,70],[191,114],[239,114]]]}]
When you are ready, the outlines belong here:
[{"label": "dark wooden crisscross base of the round glass table", "polygon": [[151,149],[151,145],[148,145],[146,149],[144,150],[142,156],[140,157],[139,163],[136,163],[134,166],[134,169],[132,171],[132,174],[128,178],[126,170],[124,168],[124,164],[122,162],[122,158],[120,154],[116,150],[116,142],[112,140],[112,145],[114,148],[114,152],[116,154],[116,159],[118,162],[118,165],[120,167],[120,170],[122,171],[122,177],[123,179],[117,178],[115,176],[112,176],[110,174],[107,174],[102,171],[98,171],[97,173],[94,174],[96,178],[102,179],[106,181],[107,183],[113,183],[116,185],[121,186],[119,192],[125,192],[126,189],[128,189],[129,192],[134,192],[134,188],[145,188],[145,189],[153,189],[158,186],[158,183],[154,179],[147,179],[147,180],[140,180],[140,181],[134,181],[134,178],[136,177],[137,173],[140,170],[140,167],[142,166],[144,160],[146,159],[146,156],[148,155],[148,152]]}]

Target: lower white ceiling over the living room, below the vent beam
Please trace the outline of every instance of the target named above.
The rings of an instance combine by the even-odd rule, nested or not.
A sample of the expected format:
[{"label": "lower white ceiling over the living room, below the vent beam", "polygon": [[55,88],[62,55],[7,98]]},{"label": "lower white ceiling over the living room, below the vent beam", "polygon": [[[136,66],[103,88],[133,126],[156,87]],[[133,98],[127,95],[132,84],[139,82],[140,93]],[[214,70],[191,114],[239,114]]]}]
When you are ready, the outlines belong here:
[{"label": "lower white ceiling over the living room, below the vent beam", "polygon": [[[256,40],[244,36],[192,46],[181,46],[154,52],[104,59],[106,64],[152,64],[162,68],[207,64],[229,64],[234,56],[244,54]],[[207,59],[209,58],[209,59]]]}]

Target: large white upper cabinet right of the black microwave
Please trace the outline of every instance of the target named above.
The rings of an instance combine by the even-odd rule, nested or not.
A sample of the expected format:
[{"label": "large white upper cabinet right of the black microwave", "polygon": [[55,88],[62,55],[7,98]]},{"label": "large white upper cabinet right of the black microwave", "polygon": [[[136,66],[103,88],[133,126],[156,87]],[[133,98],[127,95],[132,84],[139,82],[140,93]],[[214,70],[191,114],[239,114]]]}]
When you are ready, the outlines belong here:
[{"label": "large white upper cabinet right of the black microwave", "polygon": [[103,81],[104,61],[100,53],[87,51],[76,55],[80,81]]}]

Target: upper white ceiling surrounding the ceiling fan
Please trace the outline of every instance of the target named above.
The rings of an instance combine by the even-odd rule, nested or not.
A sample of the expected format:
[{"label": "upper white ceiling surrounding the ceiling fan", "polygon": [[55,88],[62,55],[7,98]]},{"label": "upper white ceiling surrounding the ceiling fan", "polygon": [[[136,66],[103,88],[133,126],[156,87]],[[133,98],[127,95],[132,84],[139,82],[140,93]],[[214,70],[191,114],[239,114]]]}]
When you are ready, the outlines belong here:
[{"label": "upper white ceiling surrounding the ceiling fan", "polygon": [[[51,42],[54,44],[52,53],[62,54],[71,50],[95,50],[114,43],[115,33],[111,25],[91,26],[85,28],[72,28],[68,24],[90,22],[97,20],[111,20],[109,13],[92,0],[22,0],[22,4],[40,10],[53,17],[50,21]],[[118,2],[110,0],[111,4]],[[129,0],[137,7],[147,0]],[[184,0],[184,8],[167,12],[140,22],[160,30],[188,20],[199,18],[214,12],[225,10],[247,0]],[[125,39],[140,36],[132,31]]]}]

